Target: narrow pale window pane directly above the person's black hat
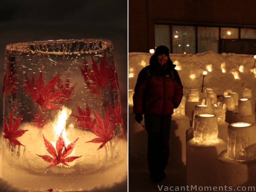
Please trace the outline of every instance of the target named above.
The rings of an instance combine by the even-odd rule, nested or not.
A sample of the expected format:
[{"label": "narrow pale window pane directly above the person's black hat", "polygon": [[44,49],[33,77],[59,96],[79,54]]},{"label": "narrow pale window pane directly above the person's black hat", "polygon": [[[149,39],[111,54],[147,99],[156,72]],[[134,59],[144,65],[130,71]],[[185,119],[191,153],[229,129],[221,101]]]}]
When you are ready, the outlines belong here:
[{"label": "narrow pale window pane directly above the person's black hat", "polygon": [[170,26],[155,25],[155,47],[165,45],[170,50]]}]

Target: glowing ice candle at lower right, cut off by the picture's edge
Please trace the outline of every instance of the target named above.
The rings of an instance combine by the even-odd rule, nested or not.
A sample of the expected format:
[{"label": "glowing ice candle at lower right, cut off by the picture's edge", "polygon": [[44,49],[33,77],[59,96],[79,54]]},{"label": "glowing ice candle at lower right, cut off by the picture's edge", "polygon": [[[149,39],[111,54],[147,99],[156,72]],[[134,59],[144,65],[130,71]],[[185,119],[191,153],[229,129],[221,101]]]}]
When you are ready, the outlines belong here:
[{"label": "glowing ice candle at lower right, cut off by the picture's edge", "polygon": [[233,160],[254,159],[256,127],[249,122],[236,122],[228,126],[228,157]]}]

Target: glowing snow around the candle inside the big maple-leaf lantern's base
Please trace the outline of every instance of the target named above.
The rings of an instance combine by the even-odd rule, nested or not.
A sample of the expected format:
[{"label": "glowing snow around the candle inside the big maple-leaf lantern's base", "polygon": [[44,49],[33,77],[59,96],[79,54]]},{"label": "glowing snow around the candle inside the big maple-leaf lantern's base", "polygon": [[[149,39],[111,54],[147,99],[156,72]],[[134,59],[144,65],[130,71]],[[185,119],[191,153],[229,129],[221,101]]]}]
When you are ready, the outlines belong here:
[{"label": "glowing snow around the candle inside the big maple-leaf lantern's base", "polygon": [[[36,154],[49,155],[45,149],[42,134],[50,142],[54,140],[52,126],[46,124],[38,129],[31,124],[24,123],[20,129],[28,129],[26,138],[18,138],[23,146],[10,148],[7,140],[3,140],[2,178],[18,189],[46,191],[50,188],[58,191],[82,191],[94,188],[111,188],[127,178],[127,142],[123,139],[113,139],[107,147],[97,150],[95,143],[86,141],[96,135],[80,129],[69,129],[65,140],[66,145],[79,137],[70,156],[81,156],[68,166],[47,167],[50,163],[42,160]],[[27,133],[28,133],[27,132]],[[56,140],[55,140],[56,142]],[[55,146],[55,142],[52,144]]]}]

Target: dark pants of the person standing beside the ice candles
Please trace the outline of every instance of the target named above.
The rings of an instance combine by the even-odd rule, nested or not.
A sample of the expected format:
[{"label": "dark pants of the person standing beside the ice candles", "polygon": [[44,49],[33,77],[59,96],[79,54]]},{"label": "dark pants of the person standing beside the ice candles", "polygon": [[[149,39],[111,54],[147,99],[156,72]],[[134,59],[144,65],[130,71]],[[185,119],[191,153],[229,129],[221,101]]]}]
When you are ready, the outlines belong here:
[{"label": "dark pants of the person standing beside the ice candles", "polygon": [[152,174],[162,174],[169,158],[171,115],[145,114],[148,132],[148,166]]}]

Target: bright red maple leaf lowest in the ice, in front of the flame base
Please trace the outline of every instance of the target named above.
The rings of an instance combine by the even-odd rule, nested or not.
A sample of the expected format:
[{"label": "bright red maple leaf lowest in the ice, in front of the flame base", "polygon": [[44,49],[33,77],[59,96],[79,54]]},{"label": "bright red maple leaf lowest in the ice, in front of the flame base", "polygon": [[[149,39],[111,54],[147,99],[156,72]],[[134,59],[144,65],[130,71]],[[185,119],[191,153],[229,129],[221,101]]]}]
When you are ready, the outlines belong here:
[{"label": "bright red maple leaf lowest in the ice, in front of the flame base", "polygon": [[[43,135],[43,138],[44,138],[44,135]],[[79,138],[74,140],[68,146],[65,146],[65,141],[63,140],[62,132],[61,132],[60,136],[58,137],[58,139],[56,141],[56,150],[55,150],[54,146],[46,138],[44,138],[45,148],[50,153],[51,156],[48,156],[48,155],[37,155],[37,156],[39,156],[43,160],[51,163],[47,168],[55,167],[55,166],[57,166],[58,164],[61,164],[61,163],[63,165],[69,166],[67,164],[67,162],[72,162],[75,159],[81,157],[81,156],[67,157],[73,151],[74,146],[76,144],[76,141],[78,139]]]}]

